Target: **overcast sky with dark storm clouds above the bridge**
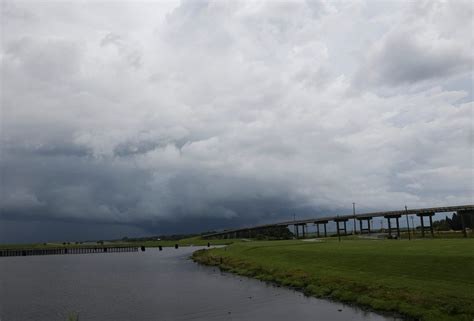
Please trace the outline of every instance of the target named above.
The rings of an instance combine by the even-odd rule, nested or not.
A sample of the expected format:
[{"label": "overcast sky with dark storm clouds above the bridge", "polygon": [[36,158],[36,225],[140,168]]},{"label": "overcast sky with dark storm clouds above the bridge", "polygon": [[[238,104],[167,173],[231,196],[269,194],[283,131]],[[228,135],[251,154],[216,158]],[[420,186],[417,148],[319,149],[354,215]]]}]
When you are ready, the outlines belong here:
[{"label": "overcast sky with dark storm clouds above the bridge", "polygon": [[1,1],[0,242],[473,204],[470,1]]}]

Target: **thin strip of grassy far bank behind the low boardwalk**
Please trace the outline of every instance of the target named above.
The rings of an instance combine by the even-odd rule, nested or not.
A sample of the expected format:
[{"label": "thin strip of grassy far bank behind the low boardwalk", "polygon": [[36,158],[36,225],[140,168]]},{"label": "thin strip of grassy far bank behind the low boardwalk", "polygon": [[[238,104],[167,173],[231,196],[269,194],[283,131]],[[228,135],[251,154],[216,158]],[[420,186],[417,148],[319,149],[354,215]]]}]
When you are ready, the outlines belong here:
[{"label": "thin strip of grassy far bank behind the low boardwalk", "polygon": [[1,249],[58,249],[58,248],[103,248],[107,246],[145,246],[145,247],[171,247],[175,244],[179,246],[206,246],[207,243],[211,245],[229,245],[234,242],[239,242],[240,240],[232,239],[216,239],[216,240],[203,240],[200,237],[191,237],[186,239],[181,239],[177,241],[137,241],[137,242],[124,242],[124,241],[113,241],[108,242],[104,241],[103,244],[97,244],[96,242],[83,242],[81,244],[76,243],[32,243],[32,244],[0,244]]}]

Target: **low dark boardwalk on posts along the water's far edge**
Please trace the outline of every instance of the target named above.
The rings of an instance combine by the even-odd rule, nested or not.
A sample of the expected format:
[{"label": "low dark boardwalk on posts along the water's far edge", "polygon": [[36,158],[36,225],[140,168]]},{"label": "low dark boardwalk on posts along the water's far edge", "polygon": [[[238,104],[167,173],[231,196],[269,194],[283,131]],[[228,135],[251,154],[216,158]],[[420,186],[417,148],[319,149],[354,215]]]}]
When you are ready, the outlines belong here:
[{"label": "low dark boardwalk on posts along the water's far edge", "polygon": [[120,253],[120,252],[138,252],[138,247],[120,246],[120,247],[84,247],[84,248],[50,248],[50,249],[4,249],[4,250],[0,250],[0,257],[31,256],[31,255],[59,255],[59,254],[89,254],[89,253]]}]

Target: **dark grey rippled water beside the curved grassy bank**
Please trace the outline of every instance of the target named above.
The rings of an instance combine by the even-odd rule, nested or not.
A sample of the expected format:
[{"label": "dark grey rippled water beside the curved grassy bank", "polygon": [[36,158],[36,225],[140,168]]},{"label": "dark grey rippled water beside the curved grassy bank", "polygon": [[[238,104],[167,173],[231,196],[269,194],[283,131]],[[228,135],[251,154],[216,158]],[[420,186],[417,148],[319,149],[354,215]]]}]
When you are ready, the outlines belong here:
[{"label": "dark grey rippled water beside the curved grassy bank", "polygon": [[394,320],[197,265],[194,250],[0,258],[0,320]]}]

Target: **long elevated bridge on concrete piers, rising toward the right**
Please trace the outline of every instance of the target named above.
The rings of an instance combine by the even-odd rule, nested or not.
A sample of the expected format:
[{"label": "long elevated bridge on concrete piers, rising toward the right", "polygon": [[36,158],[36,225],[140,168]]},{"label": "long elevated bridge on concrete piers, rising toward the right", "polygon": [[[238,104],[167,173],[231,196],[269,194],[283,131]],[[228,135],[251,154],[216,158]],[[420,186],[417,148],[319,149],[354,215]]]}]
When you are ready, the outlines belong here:
[{"label": "long elevated bridge on concrete piers, rising toward the right", "polygon": [[[303,220],[293,220],[293,221],[284,221],[273,224],[264,224],[257,225],[252,227],[244,227],[238,229],[224,230],[222,232],[212,233],[204,235],[205,239],[212,238],[252,238],[257,234],[264,232],[266,229],[276,228],[276,227],[289,227],[293,226],[295,230],[296,238],[303,238],[307,234],[308,224],[314,224],[317,228],[316,234],[317,237],[323,233],[320,230],[322,226],[324,228],[324,236],[327,237],[327,224],[329,222],[336,223],[336,232],[338,236],[348,235],[347,234],[347,221],[353,220],[354,231],[357,233],[357,224],[359,222],[359,233],[370,233],[371,232],[371,220],[374,217],[383,217],[387,220],[388,225],[388,235],[392,237],[392,230],[395,232],[397,237],[400,237],[400,222],[399,219],[402,215],[408,216],[417,216],[420,219],[421,224],[421,233],[422,237],[425,237],[425,232],[429,231],[431,236],[434,235],[433,232],[433,216],[436,213],[446,213],[446,212],[456,212],[461,216],[462,229],[464,237],[467,237],[466,226],[465,226],[465,217],[467,215],[474,215],[474,205],[459,205],[459,206],[444,206],[444,207],[431,207],[431,208],[418,208],[418,209],[403,209],[399,211],[386,211],[386,212],[371,212],[371,213],[361,213],[361,214],[352,214],[352,215],[336,215],[328,217],[316,217],[311,219]],[[428,218],[428,222],[426,222]],[[392,228],[392,222],[395,220],[395,226]],[[301,228],[301,233],[300,233]]]}]

